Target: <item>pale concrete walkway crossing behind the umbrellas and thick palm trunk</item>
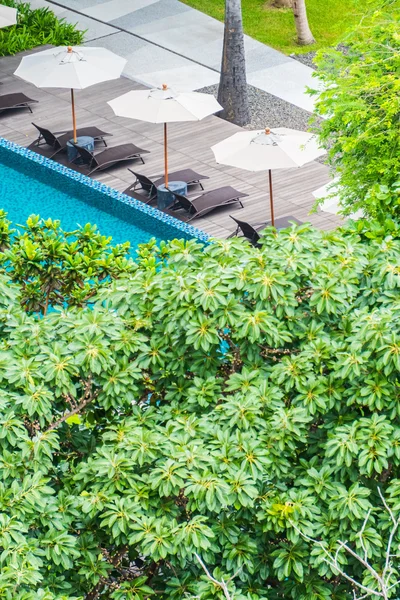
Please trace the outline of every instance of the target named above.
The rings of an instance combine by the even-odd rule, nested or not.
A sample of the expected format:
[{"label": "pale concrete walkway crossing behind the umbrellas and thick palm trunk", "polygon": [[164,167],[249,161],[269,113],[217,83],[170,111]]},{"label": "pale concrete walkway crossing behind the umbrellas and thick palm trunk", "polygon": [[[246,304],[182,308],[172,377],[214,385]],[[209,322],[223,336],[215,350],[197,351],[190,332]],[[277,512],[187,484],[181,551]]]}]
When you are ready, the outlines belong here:
[{"label": "pale concrete walkway crossing behind the umbrellas and thick palm trunk", "polygon": [[[223,24],[179,0],[33,0],[87,29],[86,43],[128,60],[125,75],[147,86],[199,89],[218,83]],[[101,39],[101,42],[99,40]],[[245,36],[251,85],[312,112],[313,70]]]}]

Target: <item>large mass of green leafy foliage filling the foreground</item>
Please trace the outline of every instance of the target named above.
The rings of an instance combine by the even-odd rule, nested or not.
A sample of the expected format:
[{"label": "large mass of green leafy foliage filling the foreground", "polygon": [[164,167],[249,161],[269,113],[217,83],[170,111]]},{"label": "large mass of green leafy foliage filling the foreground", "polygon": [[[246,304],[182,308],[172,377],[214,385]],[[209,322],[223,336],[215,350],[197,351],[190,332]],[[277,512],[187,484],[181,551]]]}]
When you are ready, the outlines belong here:
[{"label": "large mass of green leafy foliage filling the foreground", "polygon": [[[44,252],[54,231],[36,226]],[[44,316],[6,266],[0,597],[222,599],[195,554],[236,574],[235,600],[351,597],[299,531],[360,548],[371,509],[382,564],[378,485],[400,511],[399,255],[389,222],[269,228],[261,248],[151,242],[91,306]]]}]

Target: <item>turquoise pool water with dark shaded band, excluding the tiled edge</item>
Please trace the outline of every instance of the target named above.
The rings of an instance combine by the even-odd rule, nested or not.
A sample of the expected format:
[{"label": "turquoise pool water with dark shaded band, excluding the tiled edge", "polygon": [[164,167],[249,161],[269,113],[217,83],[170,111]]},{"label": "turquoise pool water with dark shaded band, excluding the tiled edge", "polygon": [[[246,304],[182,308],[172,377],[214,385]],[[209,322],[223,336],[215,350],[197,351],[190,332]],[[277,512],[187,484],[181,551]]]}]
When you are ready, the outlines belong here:
[{"label": "turquoise pool water with dark shaded band, excluding the tiled edge", "polygon": [[188,238],[152,216],[0,147],[0,208],[14,226],[32,215],[59,219],[65,231],[97,225],[114,244],[129,241],[134,250],[152,237]]}]

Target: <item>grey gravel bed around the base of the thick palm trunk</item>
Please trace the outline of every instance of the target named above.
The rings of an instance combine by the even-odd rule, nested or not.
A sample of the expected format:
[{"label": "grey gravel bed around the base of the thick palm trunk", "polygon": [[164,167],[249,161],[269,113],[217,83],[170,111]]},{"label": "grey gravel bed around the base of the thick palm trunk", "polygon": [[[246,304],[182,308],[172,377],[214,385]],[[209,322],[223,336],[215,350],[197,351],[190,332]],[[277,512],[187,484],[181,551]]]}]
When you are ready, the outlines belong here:
[{"label": "grey gravel bed around the base of the thick palm trunk", "polygon": [[[200,90],[217,97],[218,85],[211,85]],[[252,85],[248,86],[251,122],[248,129],[263,129],[264,127],[290,127],[291,129],[308,129],[311,113],[285,102],[272,94],[268,94]]]}]

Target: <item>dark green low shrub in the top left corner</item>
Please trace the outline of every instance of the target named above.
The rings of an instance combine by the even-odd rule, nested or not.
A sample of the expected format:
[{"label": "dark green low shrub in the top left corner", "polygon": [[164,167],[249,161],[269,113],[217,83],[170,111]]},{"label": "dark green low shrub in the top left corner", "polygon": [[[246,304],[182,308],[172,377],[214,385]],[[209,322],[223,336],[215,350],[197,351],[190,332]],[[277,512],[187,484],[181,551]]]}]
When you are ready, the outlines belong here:
[{"label": "dark green low shrub in the top left corner", "polygon": [[36,46],[78,45],[84,32],[76,25],[58,19],[48,8],[31,9],[28,2],[3,0],[2,4],[18,9],[18,23],[0,29],[0,56],[9,56]]}]

